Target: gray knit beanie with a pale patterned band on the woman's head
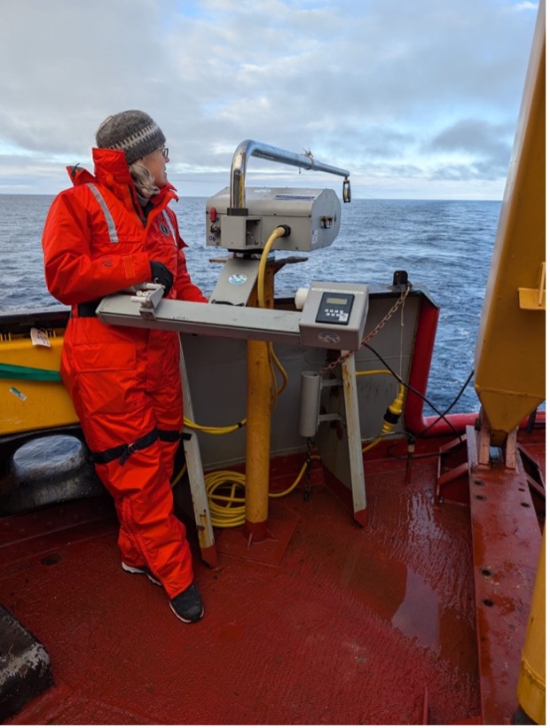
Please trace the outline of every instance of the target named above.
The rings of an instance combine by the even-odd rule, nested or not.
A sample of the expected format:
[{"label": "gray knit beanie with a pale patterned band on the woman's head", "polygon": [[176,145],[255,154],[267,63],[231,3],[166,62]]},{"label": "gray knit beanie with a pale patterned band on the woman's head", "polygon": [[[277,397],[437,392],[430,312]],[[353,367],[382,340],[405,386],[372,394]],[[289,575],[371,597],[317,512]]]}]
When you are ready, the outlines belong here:
[{"label": "gray knit beanie with a pale patterned band on the woman's head", "polygon": [[165,142],[166,137],[153,119],[135,109],[107,116],[96,134],[99,149],[124,150],[129,165],[164,146]]}]

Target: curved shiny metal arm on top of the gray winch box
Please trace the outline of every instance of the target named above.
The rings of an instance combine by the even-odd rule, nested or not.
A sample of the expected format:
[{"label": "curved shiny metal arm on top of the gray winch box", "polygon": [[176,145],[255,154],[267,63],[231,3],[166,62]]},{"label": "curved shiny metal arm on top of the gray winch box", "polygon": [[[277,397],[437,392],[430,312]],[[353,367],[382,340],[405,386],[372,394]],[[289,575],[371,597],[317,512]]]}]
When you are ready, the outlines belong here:
[{"label": "curved shiny metal arm on top of the gray winch box", "polygon": [[303,169],[316,169],[321,172],[328,172],[331,175],[350,176],[347,169],[339,167],[331,167],[313,159],[313,155],[296,154],[287,152],[285,149],[279,149],[277,146],[255,142],[252,139],[246,139],[241,142],[235,150],[231,168],[231,184],[229,205],[232,210],[244,209],[247,205],[245,192],[245,176],[247,174],[247,163],[249,157],[261,157],[263,160],[279,161],[292,167],[301,167]]}]

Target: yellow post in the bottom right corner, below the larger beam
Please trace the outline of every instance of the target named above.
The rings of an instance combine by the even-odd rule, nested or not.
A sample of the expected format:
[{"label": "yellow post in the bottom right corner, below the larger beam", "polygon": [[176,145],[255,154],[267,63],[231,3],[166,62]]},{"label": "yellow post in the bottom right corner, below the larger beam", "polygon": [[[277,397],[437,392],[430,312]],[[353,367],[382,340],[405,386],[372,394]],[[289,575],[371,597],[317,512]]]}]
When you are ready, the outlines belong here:
[{"label": "yellow post in the bottom right corner, below the larger beam", "polygon": [[523,711],[538,725],[546,724],[546,539],[533,589],[529,622],[522,650],[517,698]]}]

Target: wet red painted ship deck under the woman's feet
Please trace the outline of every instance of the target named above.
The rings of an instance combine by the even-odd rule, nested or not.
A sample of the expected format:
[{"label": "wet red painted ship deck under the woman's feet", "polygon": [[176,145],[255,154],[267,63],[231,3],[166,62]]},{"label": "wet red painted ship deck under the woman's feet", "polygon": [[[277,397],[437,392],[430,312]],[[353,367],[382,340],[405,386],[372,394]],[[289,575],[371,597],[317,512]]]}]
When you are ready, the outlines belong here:
[{"label": "wet red painted ship deck under the woman's feet", "polygon": [[405,484],[403,461],[378,457],[367,528],[319,478],[308,502],[271,501],[293,529],[274,563],[224,548],[237,532],[207,568],[190,528],[206,608],[193,625],[122,571],[107,499],[0,521],[0,603],[46,646],[55,680],[7,722],[478,722],[469,508],[434,504],[436,458]]}]

